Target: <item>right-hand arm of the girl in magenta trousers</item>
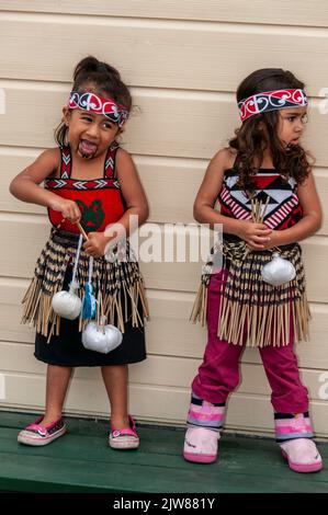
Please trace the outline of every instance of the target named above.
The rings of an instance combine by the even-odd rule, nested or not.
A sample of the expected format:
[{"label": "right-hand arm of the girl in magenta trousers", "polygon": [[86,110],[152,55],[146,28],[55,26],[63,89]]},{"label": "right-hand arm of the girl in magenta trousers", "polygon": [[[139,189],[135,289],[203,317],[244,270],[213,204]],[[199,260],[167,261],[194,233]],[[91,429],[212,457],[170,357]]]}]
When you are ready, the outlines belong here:
[{"label": "right-hand arm of the girl in magenta trousers", "polygon": [[272,231],[270,242],[265,245],[268,249],[305,240],[305,238],[313,236],[320,229],[323,211],[312,171],[306,181],[298,185],[297,195],[299,204],[303,207],[302,220],[289,229]]}]

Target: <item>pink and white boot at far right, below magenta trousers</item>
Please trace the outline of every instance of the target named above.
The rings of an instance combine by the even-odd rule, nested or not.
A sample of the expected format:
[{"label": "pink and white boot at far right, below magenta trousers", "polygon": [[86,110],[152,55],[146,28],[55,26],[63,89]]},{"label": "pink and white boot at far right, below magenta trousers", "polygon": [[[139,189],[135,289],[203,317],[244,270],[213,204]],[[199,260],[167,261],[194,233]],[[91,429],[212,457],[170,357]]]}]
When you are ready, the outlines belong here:
[{"label": "pink and white boot at far right, below magenta trousers", "polygon": [[314,440],[294,438],[280,444],[284,458],[295,472],[317,472],[324,467],[321,456]]}]

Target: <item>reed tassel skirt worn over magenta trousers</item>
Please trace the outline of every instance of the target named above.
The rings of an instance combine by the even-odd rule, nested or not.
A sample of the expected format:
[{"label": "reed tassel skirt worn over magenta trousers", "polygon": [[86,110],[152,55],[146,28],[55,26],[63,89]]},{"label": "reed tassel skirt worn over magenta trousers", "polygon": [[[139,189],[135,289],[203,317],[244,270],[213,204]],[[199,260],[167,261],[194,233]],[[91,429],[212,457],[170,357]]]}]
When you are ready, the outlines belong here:
[{"label": "reed tassel skirt worn over magenta trousers", "polygon": [[224,242],[211,252],[202,275],[190,319],[206,324],[207,288],[214,252],[224,255],[228,270],[223,282],[217,335],[229,343],[263,347],[290,343],[291,324],[295,341],[308,340],[310,318],[305,274],[297,243],[281,249],[281,255],[295,266],[296,277],[282,286],[264,283],[261,271],[271,261],[270,252],[250,252],[244,242]]}]

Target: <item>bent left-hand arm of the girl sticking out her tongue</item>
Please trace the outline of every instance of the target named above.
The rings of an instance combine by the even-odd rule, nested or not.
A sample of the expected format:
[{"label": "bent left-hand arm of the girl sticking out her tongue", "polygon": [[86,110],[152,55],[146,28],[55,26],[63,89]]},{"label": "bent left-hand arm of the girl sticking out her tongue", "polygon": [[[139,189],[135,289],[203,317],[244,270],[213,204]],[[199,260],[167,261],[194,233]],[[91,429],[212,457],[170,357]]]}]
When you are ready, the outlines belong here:
[{"label": "bent left-hand arm of the girl sticking out her tongue", "polygon": [[57,170],[58,161],[59,149],[45,150],[30,167],[12,180],[9,187],[10,193],[20,201],[61,211],[63,217],[76,222],[81,218],[77,204],[39,186],[48,175]]}]

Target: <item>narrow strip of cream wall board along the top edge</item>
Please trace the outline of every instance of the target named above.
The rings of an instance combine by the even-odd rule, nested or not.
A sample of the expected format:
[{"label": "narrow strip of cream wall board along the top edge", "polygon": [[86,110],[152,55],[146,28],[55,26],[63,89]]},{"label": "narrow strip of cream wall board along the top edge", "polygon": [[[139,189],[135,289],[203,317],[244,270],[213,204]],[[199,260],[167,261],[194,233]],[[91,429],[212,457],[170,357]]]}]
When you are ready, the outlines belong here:
[{"label": "narrow strip of cream wall board along the top edge", "polygon": [[0,11],[328,26],[325,0],[2,0]]}]

